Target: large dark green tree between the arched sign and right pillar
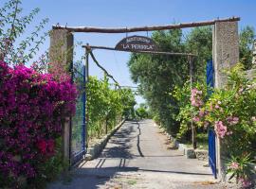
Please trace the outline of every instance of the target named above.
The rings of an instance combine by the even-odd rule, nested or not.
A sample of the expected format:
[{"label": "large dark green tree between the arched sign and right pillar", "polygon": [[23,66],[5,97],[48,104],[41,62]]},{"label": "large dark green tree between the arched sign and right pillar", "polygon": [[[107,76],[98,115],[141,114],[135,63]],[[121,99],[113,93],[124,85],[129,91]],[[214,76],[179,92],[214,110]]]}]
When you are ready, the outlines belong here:
[{"label": "large dark green tree between the arched sign and right pillar", "polygon": [[[194,64],[195,68],[201,68],[206,64],[204,59],[211,55],[211,43],[208,43],[210,29],[207,27],[204,29],[198,42],[196,39],[201,30],[192,32],[185,42],[180,29],[156,31],[152,38],[162,51],[167,52],[186,52],[199,46],[196,53],[205,55],[200,56],[200,60],[195,60]],[[201,52],[206,50],[207,52]],[[194,51],[189,52],[194,53]],[[175,121],[179,109],[176,99],[170,94],[174,91],[175,85],[183,86],[189,79],[187,57],[133,54],[128,65],[132,78],[139,83],[140,94],[145,97],[150,109],[159,116],[161,124],[175,134],[179,128],[178,122]],[[198,73],[203,76],[205,72]]]}]

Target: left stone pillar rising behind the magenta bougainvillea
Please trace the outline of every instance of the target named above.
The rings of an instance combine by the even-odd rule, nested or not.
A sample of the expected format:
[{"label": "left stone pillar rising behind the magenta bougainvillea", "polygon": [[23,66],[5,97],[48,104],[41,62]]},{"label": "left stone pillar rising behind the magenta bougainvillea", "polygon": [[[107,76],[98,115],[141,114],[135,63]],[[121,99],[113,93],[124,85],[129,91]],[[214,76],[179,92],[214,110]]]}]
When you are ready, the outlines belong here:
[{"label": "left stone pillar rising behind the magenta bougainvillea", "polygon": [[[49,47],[49,72],[56,72],[54,68],[62,69],[69,72],[73,63],[73,34],[65,29],[55,29],[50,31],[50,47]],[[70,133],[71,133],[71,117],[66,117],[63,123],[63,151],[64,160],[70,161]]]}]

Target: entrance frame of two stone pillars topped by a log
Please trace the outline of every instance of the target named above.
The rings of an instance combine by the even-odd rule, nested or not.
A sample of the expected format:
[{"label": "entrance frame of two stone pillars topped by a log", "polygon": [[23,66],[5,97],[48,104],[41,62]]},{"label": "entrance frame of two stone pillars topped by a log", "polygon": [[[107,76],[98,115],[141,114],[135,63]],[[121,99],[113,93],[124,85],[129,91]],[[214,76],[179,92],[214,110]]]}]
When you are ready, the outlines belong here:
[{"label": "entrance frame of two stone pillars topped by a log", "polygon": [[[49,59],[51,62],[62,62],[64,66],[73,61],[74,38],[72,32],[91,33],[130,33],[138,31],[154,31],[175,28],[186,28],[196,26],[213,26],[212,30],[212,60],[214,70],[214,87],[222,88],[227,83],[227,77],[223,70],[229,69],[239,61],[239,17],[228,19],[217,19],[212,21],[185,23],[168,26],[141,26],[141,27],[120,27],[102,28],[90,26],[52,26],[50,35]],[[60,45],[60,43],[62,45]],[[57,46],[57,48],[56,48]],[[109,49],[110,50],[110,49]],[[62,59],[60,61],[60,58]],[[69,159],[69,129],[68,124],[64,126],[64,158]],[[222,161],[223,151],[221,141],[216,139],[217,152],[217,175],[219,180],[225,179],[225,165]]]}]

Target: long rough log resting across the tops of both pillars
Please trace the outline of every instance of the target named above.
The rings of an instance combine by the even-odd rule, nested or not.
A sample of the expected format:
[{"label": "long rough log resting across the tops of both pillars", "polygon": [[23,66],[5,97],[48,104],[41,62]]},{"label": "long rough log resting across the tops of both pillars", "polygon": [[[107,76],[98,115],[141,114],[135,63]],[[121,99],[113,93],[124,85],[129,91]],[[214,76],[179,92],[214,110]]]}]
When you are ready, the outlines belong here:
[{"label": "long rough log resting across the tops of both pillars", "polygon": [[93,27],[93,26],[52,26],[52,29],[66,29],[70,32],[94,32],[94,33],[128,33],[138,31],[155,31],[155,30],[166,30],[166,29],[177,29],[195,26],[211,26],[216,22],[234,22],[240,21],[240,17],[231,17],[226,19],[217,19],[212,21],[203,21],[195,23],[181,23],[178,25],[167,25],[167,26],[138,26],[138,27]]}]

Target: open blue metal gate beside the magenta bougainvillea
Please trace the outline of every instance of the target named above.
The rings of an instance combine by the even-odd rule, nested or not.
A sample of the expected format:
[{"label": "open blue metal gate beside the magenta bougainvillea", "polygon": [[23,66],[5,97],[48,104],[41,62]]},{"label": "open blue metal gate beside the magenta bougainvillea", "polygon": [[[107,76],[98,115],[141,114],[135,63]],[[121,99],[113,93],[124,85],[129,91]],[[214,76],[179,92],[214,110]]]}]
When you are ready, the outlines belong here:
[{"label": "open blue metal gate beside the magenta bougainvillea", "polygon": [[85,148],[85,67],[74,65],[72,68],[72,80],[77,85],[78,99],[76,114],[71,122],[70,163],[71,165],[82,160],[86,152]]}]

